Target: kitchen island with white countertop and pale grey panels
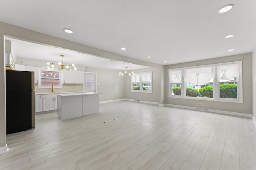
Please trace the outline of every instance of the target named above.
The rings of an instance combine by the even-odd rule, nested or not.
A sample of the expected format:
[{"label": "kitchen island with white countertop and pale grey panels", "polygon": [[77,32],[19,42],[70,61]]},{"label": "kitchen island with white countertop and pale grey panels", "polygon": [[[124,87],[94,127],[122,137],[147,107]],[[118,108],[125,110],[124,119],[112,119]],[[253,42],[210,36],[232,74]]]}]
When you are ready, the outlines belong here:
[{"label": "kitchen island with white countertop and pale grey panels", "polygon": [[61,120],[82,117],[100,111],[102,93],[66,93],[57,94],[58,118]]}]

